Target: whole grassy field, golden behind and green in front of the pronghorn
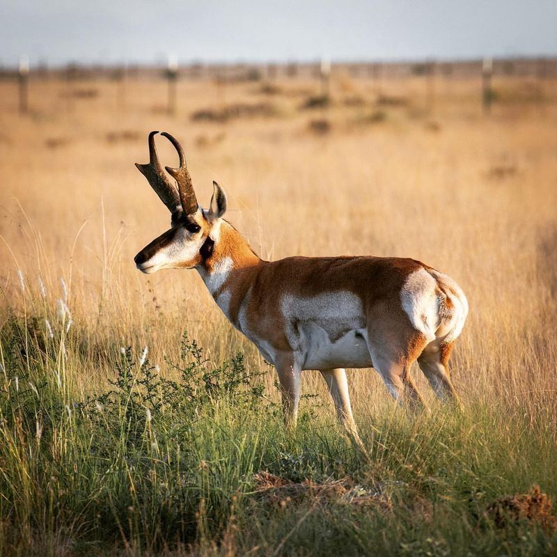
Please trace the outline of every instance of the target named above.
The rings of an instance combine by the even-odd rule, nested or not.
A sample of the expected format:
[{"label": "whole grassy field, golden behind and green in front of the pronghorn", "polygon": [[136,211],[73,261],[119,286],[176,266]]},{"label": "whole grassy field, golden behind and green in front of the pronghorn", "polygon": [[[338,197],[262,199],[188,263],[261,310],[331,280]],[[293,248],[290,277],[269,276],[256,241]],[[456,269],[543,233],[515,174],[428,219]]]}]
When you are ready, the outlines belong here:
[{"label": "whole grassy field, golden behind and green in front of the pronghorn", "polygon": [[[557,84],[546,80],[541,102],[535,82],[496,79],[489,115],[481,106],[479,79],[439,78],[432,104],[423,78],[380,86],[379,92],[371,80],[338,75],[329,106],[308,107],[319,95],[316,81],[180,81],[178,109],[169,116],[162,80],[128,79],[124,86],[33,79],[29,114],[22,116],[17,84],[0,82],[1,551],[557,551],[553,526],[524,519],[499,528],[488,512],[498,497],[528,492],[535,484],[557,496]],[[223,415],[203,418],[205,429],[192,441],[198,452],[183,449],[190,450],[184,462],[198,471],[198,483],[191,485],[202,487],[176,519],[181,526],[164,533],[156,527],[173,519],[165,506],[170,503],[153,502],[162,481],[153,478],[155,467],[150,476],[142,473],[138,496],[139,488],[130,487],[129,460],[113,462],[109,468],[127,471],[114,485],[129,489],[118,495],[115,487],[103,499],[107,480],[97,464],[86,467],[83,451],[91,447],[74,438],[74,430],[92,423],[81,403],[111,389],[122,359],[140,372],[144,366],[133,366],[143,347],[168,378],[179,375],[168,362],[180,359],[185,331],[215,366],[242,352],[247,370],[267,370],[253,379],[265,387],[261,402],[278,400],[274,370],[226,322],[196,272],[146,276],[135,269],[134,254],[169,226],[164,205],[134,167],[148,158],[150,130],[171,132],[185,146],[203,205],[212,180],[223,185],[228,219],[262,258],[409,256],[453,276],[470,304],[452,359],[462,416],[436,405],[417,368],[433,414],[414,421],[394,409],[374,371],[350,370],[356,422],[372,454],[371,462],[362,462],[338,431],[317,372],[304,372],[303,393],[320,396],[302,401],[305,419],[291,438],[281,431],[272,405],[261,414],[255,404],[223,409],[210,402]],[[175,166],[175,153],[163,141],[159,154]],[[60,302],[57,307],[58,299],[67,311]],[[120,347],[131,347],[129,358]],[[41,384],[52,387],[46,398]],[[52,402],[58,400],[56,384],[59,409]],[[23,391],[32,404],[17,402]],[[138,404],[149,408],[148,399]],[[237,425],[238,413],[242,420],[253,416]],[[154,410],[153,416],[156,424]],[[150,419],[142,419],[141,439],[151,439],[149,447],[162,443],[152,441],[155,425],[151,430]],[[85,425],[78,427],[78,420]],[[222,421],[217,433],[212,420]],[[120,455],[121,436],[111,437],[105,425]],[[172,461],[168,467],[178,477],[171,437],[165,437],[167,459],[150,458],[163,467]],[[79,455],[70,455],[72,442],[81,447]],[[244,450],[242,443],[251,447],[251,456],[242,453],[247,467],[230,457]],[[40,451],[45,455],[39,457]],[[106,464],[111,457],[103,458]],[[230,472],[228,483],[213,475],[212,466]],[[206,477],[205,467],[211,471]],[[231,470],[237,480],[230,480]],[[365,512],[366,505],[340,512],[340,503],[329,500],[333,496],[315,490],[299,503],[292,495],[287,504],[279,494],[284,505],[269,510],[249,496],[258,492],[253,475],[265,470],[294,485],[342,480],[350,489],[375,489],[386,494],[389,510],[377,504]],[[87,477],[78,489],[58,478],[64,473]],[[106,502],[126,497],[132,502],[123,502],[121,510]],[[327,504],[318,503],[323,498]]]}]

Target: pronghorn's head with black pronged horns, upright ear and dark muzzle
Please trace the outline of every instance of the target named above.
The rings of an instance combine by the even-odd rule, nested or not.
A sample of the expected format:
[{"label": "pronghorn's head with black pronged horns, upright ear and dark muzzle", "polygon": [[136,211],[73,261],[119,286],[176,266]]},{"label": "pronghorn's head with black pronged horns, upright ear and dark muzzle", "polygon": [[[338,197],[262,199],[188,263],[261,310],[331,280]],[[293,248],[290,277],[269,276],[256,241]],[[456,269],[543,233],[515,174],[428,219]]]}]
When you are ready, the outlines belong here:
[{"label": "pronghorn's head with black pronged horns, upright ear and dark muzzle", "polygon": [[162,135],[171,141],[180,157],[178,168],[165,167],[176,182],[176,185],[173,184],[159,162],[155,147],[155,135],[158,133],[149,134],[148,164],[136,166],[171,212],[171,228],[135,256],[136,267],[143,273],[154,273],[159,269],[191,269],[199,265],[212,252],[221,217],[226,211],[226,194],[217,182],[213,182],[209,209],[199,207],[184,150],[171,134],[163,132]]}]

